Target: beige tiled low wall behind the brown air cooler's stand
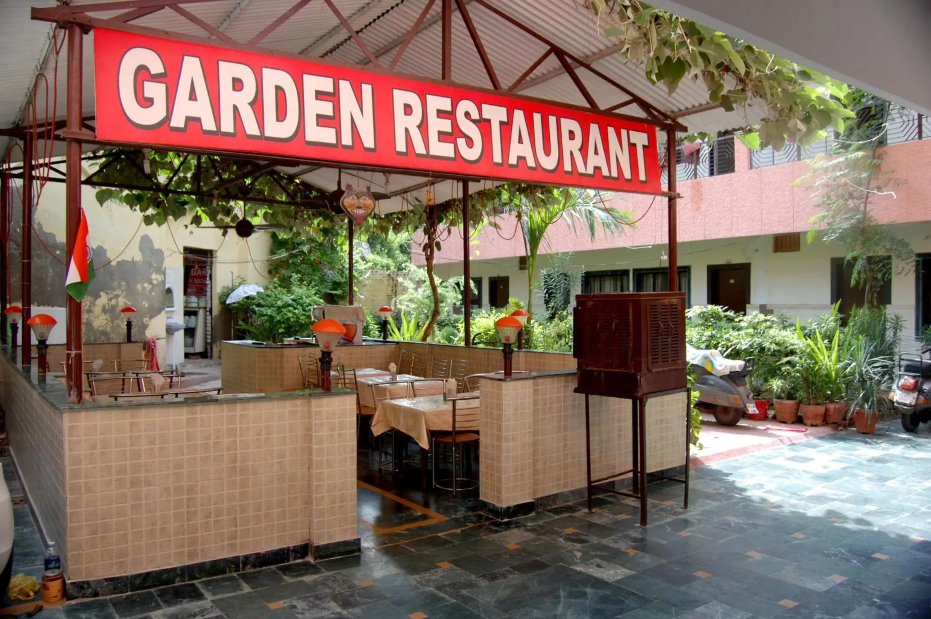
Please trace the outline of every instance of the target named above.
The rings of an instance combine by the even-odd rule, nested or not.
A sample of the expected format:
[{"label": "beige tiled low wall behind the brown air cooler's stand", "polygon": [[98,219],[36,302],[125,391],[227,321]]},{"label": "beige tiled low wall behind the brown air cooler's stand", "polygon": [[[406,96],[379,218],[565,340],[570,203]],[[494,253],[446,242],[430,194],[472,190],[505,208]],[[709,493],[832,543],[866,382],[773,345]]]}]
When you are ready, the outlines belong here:
[{"label": "beige tiled low wall behind the brown air cooler's stand", "polygon": [[[481,381],[482,499],[518,505],[585,487],[585,397],[574,387],[574,375]],[[627,470],[630,400],[591,397],[589,406],[592,477]],[[684,464],[684,394],[649,400],[646,420],[647,469]]]}]

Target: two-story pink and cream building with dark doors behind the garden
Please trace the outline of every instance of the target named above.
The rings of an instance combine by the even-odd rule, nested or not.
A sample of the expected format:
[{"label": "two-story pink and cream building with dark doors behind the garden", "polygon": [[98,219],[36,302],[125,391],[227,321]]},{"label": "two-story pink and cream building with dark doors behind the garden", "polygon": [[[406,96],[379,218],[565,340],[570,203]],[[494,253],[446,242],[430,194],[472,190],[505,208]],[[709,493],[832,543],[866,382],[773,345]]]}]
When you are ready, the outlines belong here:
[{"label": "two-story pink and cream building with dark doors behind the garden", "polygon": [[[877,221],[891,224],[915,251],[906,265],[879,291],[890,311],[907,321],[907,334],[931,324],[931,122],[893,105],[881,149],[895,195],[870,198]],[[809,173],[818,153],[829,153],[832,138],[806,148],[789,143],[780,151],[751,151],[734,136],[712,144],[680,146],[678,167],[680,286],[691,305],[716,303],[738,312],[781,312],[818,316],[841,301],[844,309],[862,300],[850,286],[850,266],[839,243],[809,244],[806,233],[818,212],[812,189],[793,184]],[[664,179],[665,182],[665,179]],[[583,227],[553,224],[537,260],[537,271],[553,254],[572,252],[580,292],[665,289],[667,280],[666,200],[648,195],[605,195],[605,203],[640,219],[623,235],[591,242]],[[473,307],[500,307],[508,297],[526,301],[528,279],[522,236],[513,217],[502,215],[498,228],[483,227],[472,248],[471,276],[478,295]],[[516,233],[516,234],[515,234]],[[452,238],[456,233],[452,233]],[[413,262],[424,264],[422,254]],[[436,273],[462,275],[461,243],[446,242],[437,252]],[[539,277],[538,277],[539,279]],[[859,292],[859,294],[857,294]],[[539,289],[534,306],[543,307]]]}]

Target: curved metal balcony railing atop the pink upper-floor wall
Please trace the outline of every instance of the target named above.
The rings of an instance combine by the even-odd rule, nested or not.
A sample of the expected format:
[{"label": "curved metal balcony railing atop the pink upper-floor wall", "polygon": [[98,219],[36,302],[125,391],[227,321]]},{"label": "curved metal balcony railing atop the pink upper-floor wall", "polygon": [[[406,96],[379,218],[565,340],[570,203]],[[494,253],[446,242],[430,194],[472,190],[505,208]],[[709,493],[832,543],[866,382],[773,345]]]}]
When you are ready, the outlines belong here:
[{"label": "curved metal balcony railing atop the pink upper-floor wall", "polygon": [[[896,103],[889,104],[889,114],[884,134],[879,141],[880,146],[923,140],[926,137],[931,137],[931,120],[927,116],[906,110]],[[750,168],[767,168],[792,161],[811,159],[816,155],[830,155],[834,152],[836,140],[834,132],[828,131],[828,135],[824,138],[805,147],[789,141],[781,151],[776,151],[772,146],[759,151],[750,151]]]}]

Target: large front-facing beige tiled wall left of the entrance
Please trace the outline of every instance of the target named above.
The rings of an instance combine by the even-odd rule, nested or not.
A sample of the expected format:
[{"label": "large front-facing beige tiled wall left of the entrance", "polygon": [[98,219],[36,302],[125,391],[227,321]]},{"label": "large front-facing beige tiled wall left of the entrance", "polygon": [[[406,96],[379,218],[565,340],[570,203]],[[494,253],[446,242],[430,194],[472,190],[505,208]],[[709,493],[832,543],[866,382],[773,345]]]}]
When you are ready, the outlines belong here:
[{"label": "large front-facing beige tiled wall left of the entrance", "polygon": [[357,537],[355,414],[352,396],[65,413],[69,579]]}]

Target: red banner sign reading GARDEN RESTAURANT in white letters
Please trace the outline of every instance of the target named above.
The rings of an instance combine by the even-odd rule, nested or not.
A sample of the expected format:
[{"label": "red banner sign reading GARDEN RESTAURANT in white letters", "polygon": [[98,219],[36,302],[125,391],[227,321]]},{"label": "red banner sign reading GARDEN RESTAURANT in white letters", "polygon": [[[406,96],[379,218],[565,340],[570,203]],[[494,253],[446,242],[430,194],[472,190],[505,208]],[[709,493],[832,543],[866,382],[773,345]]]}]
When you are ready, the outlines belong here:
[{"label": "red banner sign reading GARDEN RESTAURANT in white letters", "polygon": [[658,194],[655,128],[237,49],[94,31],[97,137]]}]

